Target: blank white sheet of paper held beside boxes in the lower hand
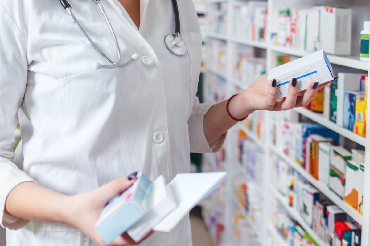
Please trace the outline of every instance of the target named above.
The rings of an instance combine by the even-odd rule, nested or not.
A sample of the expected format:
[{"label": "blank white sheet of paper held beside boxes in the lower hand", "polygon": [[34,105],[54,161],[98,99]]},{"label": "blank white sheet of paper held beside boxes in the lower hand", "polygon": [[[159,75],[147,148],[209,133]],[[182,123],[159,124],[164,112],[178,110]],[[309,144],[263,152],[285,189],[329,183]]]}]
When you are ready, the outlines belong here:
[{"label": "blank white sheet of paper held beside boxes in the lower hand", "polygon": [[226,172],[181,173],[169,183],[178,206],[154,228],[154,231],[170,232],[200,201],[216,190],[225,179]]}]

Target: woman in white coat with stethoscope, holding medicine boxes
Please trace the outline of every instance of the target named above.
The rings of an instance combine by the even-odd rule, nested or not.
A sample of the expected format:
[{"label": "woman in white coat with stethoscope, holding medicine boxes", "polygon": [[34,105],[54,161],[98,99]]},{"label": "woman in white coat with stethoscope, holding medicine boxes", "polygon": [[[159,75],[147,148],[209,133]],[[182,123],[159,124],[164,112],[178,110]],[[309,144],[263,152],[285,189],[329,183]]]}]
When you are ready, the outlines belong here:
[{"label": "woman in white coat with stethoscope, holding medicine boxes", "polygon": [[[0,3],[0,223],[10,229],[7,245],[104,245],[94,224],[135,180],[125,176],[142,171],[171,180],[189,172],[189,152],[218,151],[238,120],[306,105],[323,86],[312,83],[297,96],[292,81],[289,95],[276,101],[276,82],[261,76],[232,100],[199,104],[198,18],[192,0],[178,0],[178,14],[172,2]],[[18,112],[20,156],[11,151]],[[112,243],[130,244],[127,235]],[[191,244],[188,218],[141,243]]]}]

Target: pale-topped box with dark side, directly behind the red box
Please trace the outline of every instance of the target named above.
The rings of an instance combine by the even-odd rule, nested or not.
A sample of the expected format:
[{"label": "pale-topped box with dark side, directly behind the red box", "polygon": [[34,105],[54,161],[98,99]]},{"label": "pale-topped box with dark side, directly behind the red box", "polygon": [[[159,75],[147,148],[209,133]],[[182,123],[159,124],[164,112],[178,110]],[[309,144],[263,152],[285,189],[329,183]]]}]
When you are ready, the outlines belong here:
[{"label": "pale-topped box with dark side, directly behind the red box", "polygon": [[347,214],[343,212],[337,205],[331,205],[326,207],[326,244],[333,245],[334,239],[334,222],[337,221],[346,221]]}]

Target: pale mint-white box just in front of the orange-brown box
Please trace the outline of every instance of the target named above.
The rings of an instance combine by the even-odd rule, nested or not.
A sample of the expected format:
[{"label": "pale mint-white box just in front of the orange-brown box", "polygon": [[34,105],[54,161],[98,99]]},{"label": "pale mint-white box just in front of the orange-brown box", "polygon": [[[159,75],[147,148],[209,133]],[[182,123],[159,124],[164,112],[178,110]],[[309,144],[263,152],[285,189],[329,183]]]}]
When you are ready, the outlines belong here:
[{"label": "pale mint-white box just in front of the orange-brown box", "polygon": [[329,187],[329,170],[330,170],[330,149],[333,148],[331,143],[319,143],[319,181]]}]

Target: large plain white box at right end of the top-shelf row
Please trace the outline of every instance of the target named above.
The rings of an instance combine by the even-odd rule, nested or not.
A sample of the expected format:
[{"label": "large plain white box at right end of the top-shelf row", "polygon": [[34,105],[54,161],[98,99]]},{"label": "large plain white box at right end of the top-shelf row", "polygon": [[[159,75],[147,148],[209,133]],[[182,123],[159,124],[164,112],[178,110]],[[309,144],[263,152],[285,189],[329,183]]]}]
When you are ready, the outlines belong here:
[{"label": "large plain white box at right end of the top-shelf row", "polygon": [[352,11],[350,8],[325,8],[320,15],[321,48],[330,54],[351,54]]}]

